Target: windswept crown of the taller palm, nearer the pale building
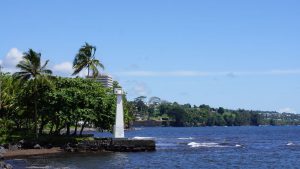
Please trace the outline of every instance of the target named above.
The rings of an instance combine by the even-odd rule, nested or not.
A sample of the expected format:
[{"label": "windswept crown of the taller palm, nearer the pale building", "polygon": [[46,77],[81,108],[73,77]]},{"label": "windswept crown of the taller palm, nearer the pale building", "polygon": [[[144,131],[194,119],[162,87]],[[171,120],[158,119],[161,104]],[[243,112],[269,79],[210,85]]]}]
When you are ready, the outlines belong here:
[{"label": "windswept crown of the taller palm, nearer the pale building", "polygon": [[98,59],[95,58],[96,47],[85,43],[78,53],[75,56],[73,61],[74,73],[73,75],[77,75],[83,69],[88,69],[88,77],[90,76],[90,71],[93,72],[93,77],[98,76],[99,70],[98,67],[104,69],[104,66]]}]

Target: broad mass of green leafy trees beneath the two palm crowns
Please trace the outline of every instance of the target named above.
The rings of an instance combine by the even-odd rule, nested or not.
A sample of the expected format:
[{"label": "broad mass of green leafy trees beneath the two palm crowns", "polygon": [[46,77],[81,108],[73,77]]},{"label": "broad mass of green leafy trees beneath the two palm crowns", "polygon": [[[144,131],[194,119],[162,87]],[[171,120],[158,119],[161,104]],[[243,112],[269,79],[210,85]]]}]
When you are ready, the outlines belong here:
[{"label": "broad mass of green leafy trees beneath the two palm crowns", "polygon": [[[45,135],[82,134],[85,127],[112,131],[116,96],[112,89],[99,82],[82,78],[53,77],[52,86],[25,81],[22,87],[13,84],[13,76],[2,75],[1,127]],[[38,92],[38,98],[36,98]],[[130,124],[132,114],[124,96],[125,123]],[[35,116],[35,106],[38,107]],[[36,130],[36,124],[38,130]],[[80,124],[80,122],[82,124]],[[1,131],[0,131],[1,132]],[[8,132],[8,131],[5,131]]]}]

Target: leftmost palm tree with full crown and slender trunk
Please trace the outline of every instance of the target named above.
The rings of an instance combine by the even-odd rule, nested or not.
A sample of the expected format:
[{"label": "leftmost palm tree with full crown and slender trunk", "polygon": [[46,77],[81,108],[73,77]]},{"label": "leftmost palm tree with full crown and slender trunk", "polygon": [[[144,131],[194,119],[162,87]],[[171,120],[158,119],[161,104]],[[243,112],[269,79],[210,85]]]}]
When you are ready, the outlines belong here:
[{"label": "leftmost palm tree with full crown and slender trunk", "polygon": [[[47,69],[46,66],[49,60],[47,60],[43,65],[41,65],[41,53],[37,53],[32,49],[23,54],[23,59],[17,64],[17,68],[20,72],[13,74],[14,78],[24,81],[32,81],[33,83],[33,93],[34,93],[34,130],[36,138],[38,138],[38,83],[50,83],[48,77],[52,74],[52,71]],[[22,83],[21,83],[22,84]]]}]

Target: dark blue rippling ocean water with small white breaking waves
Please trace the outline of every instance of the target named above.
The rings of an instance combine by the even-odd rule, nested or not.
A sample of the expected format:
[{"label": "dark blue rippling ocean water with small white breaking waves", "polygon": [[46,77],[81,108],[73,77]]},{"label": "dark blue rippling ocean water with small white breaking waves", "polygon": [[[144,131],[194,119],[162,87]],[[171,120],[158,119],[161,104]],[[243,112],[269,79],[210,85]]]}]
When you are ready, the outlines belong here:
[{"label": "dark blue rippling ocean water with small white breaking waves", "polygon": [[300,168],[300,126],[153,127],[125,135],[151,137],[157,150],[38,156],[8,162],[15,168]]}]

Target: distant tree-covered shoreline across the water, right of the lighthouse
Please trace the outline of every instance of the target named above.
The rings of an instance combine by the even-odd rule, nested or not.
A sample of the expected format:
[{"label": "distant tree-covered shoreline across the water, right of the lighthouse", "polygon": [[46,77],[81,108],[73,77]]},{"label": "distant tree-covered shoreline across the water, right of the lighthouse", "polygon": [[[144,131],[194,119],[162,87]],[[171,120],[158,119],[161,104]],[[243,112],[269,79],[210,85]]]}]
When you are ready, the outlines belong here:
[{"label": "distant tree-covered shoreline across the water, right of the lighthouse", "polygon": [[208,105],[180,105],[141,96],[130,102],[137,120],[162,120],[171,126],[300,125],[300,115],[252,110],[211,108]]}]

